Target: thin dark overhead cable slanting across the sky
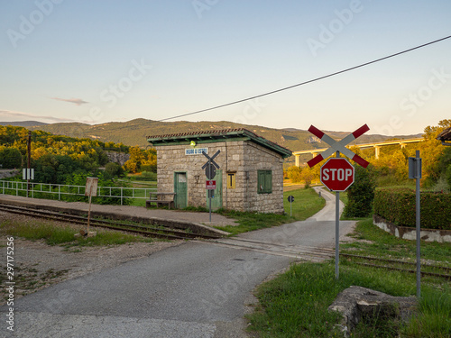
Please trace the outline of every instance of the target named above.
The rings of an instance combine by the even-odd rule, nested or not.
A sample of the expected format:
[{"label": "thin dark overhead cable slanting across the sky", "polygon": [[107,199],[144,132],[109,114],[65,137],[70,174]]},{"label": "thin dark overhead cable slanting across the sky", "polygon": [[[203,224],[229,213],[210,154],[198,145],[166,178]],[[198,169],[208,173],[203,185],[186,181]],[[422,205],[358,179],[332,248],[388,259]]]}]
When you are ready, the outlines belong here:
[{"label": "thin dark overhead cable slanting across the sky", "polygon": [[354,66],[354,67],[351,67],[351,68],[348,68],[348,69],[339,70],[339,71],[336,71],[335,73],[330,73],[330,74],[327,74],[327,75],[322,76],[322,77],[319,77],[319,78],[313,78],[313,79],[310,79],[310,80],[308,80],[308,81],[304,81],[304,82],[298,83],[298,84],[296,84],[296,85],[292,85],[292,86],[289,86],[289,87],[283,87],[283,88],[280,88],[280,89],[272,90],[271,92],[263,93],[263,94],[256,95],[256,96],[246,97],[246,98],[243,98],[243,99],[241,99],[241,100],[229,102],[229,103],[224,104],[224,105],[215,105],[215,106],[210,107],[210,108],[207,108],[207,109],[201,109],[201,110],[197,110],[197,111],[195,111],[195,112],[191,112],[191,113],[187,113],[187,114],[180,114],[180,115],[176,115],[176,116],[172,116],[172,117],[166,117],[166,118],[164,118],[164,119],[158,120],[158,122],[161,122],[161,121],[168,121],[168,120],[172,120],[172,119],[175,119],[175,118],[178,118],[178,117],[183,117],[183,116],[189,116],[189,115],[194,115],[194,114],[204,113],[204,112],[208,112],[208,111],[210,111],[210,110],[214,110],[214,109],[218,109],[218,108],[223,108],[223,107],[225,107],[225,106],[227,106],[227,105],[236,105],[236,104],[239,104],[239,103],[242,103],[242,102],[245,102],[245,101],[253,100],[254,98],[258,98],[258,97],[262,97],[262,96],[269,96],[269,95],[272,95],[272,94],[275,94],[275,93],[279,93],[279,92],[281,92],[281,91],[288,90],[288,89],[291,89],[291,88],[294,88],[294,87],[304,86],[304,85],[307,85],[307,84],[309,84],[309,83],[312,83],[312,82],[316,82],[316,81],[322,80],[322,79],[324,79],[324,78],[331,78],[331,77],[335,77],[335,76],[338,75],[338,74],[342,74],[342,73],[345,73],[345,72],[348,72],[348,71],[351,71],[351,70],[354,70],[354,69],[360,69],[360,68],[362,68],[362,67],[364,67],[364,66],[371,65],[371,64],[373,64],[373,63],[382,61],[382,60],[384,60],[384,59],[390,59],[390,58],[393,58],[393,57],[395,57],[395,56],[398,56],[398,55],[401,55],[401,54],[408,53],[408,52],[410,52],[410,51],[412,51],[412,50],[419,50],[420,48],[423,48],[423,47],[426,47],[426,46],[428,46],[428,45],[431,45],[431,44],[434,44],[434,43],[437,43],[437,42],[440,42],[440,41],[444,41],[444,40],[450,39],[450,38],[451,38],[451,35],[448,35],[448,36],[446,36],[445,38],[438,39],[438,40],[435,40],[435,41],[430,41],[430,42],[428,42],[428,43],[424,43],[424,44],[419,45],[419,46],[417,46],[417,47],[410,48],[409,50],[402,50],[402,51],[399,51],[399,52],[397,52],[397,53],[388,55],[388,56],[383,57],[383,58],[380,58],[380,59],[373,59],[373,61],[365,62],[365,63],[362,63],[362,64],[360,64],[360,65],[358,65],[358,66]]}]

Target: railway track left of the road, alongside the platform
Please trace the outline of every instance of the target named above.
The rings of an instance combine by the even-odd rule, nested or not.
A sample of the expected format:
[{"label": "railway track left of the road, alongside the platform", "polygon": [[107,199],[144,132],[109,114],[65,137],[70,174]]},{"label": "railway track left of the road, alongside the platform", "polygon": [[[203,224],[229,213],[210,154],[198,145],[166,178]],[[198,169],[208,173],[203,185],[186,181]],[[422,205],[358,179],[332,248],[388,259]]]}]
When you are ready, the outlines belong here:
[{"label": "railway track left of the road, alongside the platform", "polygon": [[[71,224],[87,224],[87,217],[78,215],[61,214],[48,210],[38,210],[34,208],[27,208],[23,206],[10,206],[5,204],[0,204],[0,211],[7,213],[26,215],[31,217],[38,217],[44,219],[50,219],[60,222],[70,222]],[[90,226],[96,226],[99,228],[106,228],[111,230],[122,231],[126,233],[141,234],[143,236],[164,238],[169,240],[186,240],[186,239],[215,239],[216,236],[189,233],[177,229],[169,229],[161,226],[152,225],[137,225],[137,224],[126,224],[123,222],[106,221],[99,220],[96,218],[91,218],[89,221]]]}]

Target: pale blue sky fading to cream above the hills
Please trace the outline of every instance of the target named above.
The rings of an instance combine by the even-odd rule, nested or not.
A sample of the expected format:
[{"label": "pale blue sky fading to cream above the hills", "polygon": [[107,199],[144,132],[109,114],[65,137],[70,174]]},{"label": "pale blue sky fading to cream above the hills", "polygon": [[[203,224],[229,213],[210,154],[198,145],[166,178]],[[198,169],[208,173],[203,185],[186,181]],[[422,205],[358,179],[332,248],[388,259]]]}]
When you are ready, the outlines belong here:
[{"label": "pale blue sky fading to cream above the hills", "polygon": [[[1,0],[0,120],[161,120],[451,35],[451,2]],[[171,121],[422,132],[451,118],[451,39]]]}]

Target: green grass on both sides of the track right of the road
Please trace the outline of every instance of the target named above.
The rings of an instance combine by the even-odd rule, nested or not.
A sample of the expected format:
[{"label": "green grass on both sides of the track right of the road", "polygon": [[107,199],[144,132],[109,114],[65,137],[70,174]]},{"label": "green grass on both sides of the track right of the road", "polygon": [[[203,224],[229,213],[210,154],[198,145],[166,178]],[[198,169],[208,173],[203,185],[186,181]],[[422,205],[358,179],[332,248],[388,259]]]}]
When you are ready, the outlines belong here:
[{"label": "green grass on both sides of the track right of the road", "polygon": [[[359,254],[378,255],[398,251],[406,241],[379,233],[371,220],[359,222],[354,236],[365,240]],[[377,241],[377,242],[373,242]],[[373,243],[371,243],[373,242]],[[424,260],[449,263],[449,244],[422,242]],[[353,244],[344,244],[350,249]],[[375,247],[373,246],[375,245]],[[380,246],[382,245],[382,246]],[[447,256],[447,257],[446,257]],[[276,279],[256,290],[259,304],[247,318],[249,329],[259,337],[333,337],[343,336],[335,330],[336,314],[327,311],[339,292],[350,286],[362,286],[392,296],[414,296],[416,277],[402,271],[389,271],[340,262],[340,279],[335,279],[335,263],[295,264]],[[451,287],[444,279],[422,279],[419,314],[409,324],[379,318],[359,324],[353,337],[449,337],[451,336]]]}]

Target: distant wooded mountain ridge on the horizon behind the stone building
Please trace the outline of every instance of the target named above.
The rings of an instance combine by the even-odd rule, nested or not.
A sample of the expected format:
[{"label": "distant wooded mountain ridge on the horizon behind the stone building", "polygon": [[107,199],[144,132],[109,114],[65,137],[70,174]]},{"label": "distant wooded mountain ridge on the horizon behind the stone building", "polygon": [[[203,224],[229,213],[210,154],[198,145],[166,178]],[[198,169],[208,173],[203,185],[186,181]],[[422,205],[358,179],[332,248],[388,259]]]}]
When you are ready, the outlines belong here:
[{"label": "distant wooded mountain ridge on the horizon behind the stone building", "polygon": [[[286,128],[286,129],[273,129],[262,127],[259,125],[248,125],[240,123],[232,123],[227,121],[220,122],[157,122],[146,119],[135,119],[132,121],[118,123],[102,123],[102,124],[85,124],[85,123],[51,123],[42,124],[40,126],[32,126],[32,130],[42,130],[45,132],[51,132],[53,134],[66,135],[71,137],[87,137],[90,139],[98,140],[101,142],[115,142],[124,143],[129,146],[147,146],[146,136],[150,135],[164,135],[169,133],[180,132],[196,132],[196,131],[209,131],[214,129],[235,129],[246,128],[256,134],[280,144],[283,147],[290,149],[291,151],[304,151],[316,148],[327,148],[328,145],[325,142],[321,142],[313,136],[310,132]],[[340,140],[349,132],[327,132],[336,140]],[[358,138],[358,140],[352,142],[355,143],[369,143],[379,142],[387,139],[395,138],[415,138],[420,135],[406,135],[406,136],[384,136],[384,135],[367,135],[364,134]],[[292,160],[292,159],[291,159]]]}]

